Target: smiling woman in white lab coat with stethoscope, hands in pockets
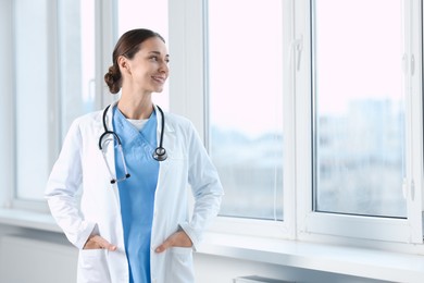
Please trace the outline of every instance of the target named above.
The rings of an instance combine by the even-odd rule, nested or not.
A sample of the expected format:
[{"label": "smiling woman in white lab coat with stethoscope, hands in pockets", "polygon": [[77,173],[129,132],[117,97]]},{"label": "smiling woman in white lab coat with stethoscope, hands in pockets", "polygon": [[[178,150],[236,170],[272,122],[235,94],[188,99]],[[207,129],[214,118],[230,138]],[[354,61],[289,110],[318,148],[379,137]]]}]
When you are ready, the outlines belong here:
[{"label": "smiling woman in white lab coat with stethoscope, hands in pockets", "polygon": [[167,64],[159,34],[125,33],[104,75],[121,98],[74,121],[52,169],[46,197],[80,249],[78,282],[195,281],[192,249],[223,188],[192,124],[152,102]]}]

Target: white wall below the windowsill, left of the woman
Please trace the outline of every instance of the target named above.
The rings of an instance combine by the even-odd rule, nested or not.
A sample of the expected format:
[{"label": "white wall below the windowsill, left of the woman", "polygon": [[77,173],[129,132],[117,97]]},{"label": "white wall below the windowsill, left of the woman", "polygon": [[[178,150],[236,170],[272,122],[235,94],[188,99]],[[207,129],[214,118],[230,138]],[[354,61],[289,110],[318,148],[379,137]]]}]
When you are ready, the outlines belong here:
[{"label": "white wall below the windowsill, left of the woman", "polygon": [[2,283],[75,283],[76,260],[62,234],[0,225]]}]

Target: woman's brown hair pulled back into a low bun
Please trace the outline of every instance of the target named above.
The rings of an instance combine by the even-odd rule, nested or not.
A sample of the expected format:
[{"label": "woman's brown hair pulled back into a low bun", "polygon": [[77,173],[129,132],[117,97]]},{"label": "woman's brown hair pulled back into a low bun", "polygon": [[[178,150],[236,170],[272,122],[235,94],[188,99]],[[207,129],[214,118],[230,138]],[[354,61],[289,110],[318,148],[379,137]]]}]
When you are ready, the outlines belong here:
[{"label": "woman's brown hair pulled back into a low bun", "polygon": [[133,59],[138,50],[140,50],[140,45],[152,37],[159,37],[163,42],[165,42],[160,34],[146,28],[128,30],[117,40],[112,53],[113,65],[109,67],[109,72],[104,75],[104,82],[108,84],[109,90],[112,94],[117,94],[122,87],[122,74],[120,66],[117,65],[117,58],[120,56],[124,56],[128,59]]}]

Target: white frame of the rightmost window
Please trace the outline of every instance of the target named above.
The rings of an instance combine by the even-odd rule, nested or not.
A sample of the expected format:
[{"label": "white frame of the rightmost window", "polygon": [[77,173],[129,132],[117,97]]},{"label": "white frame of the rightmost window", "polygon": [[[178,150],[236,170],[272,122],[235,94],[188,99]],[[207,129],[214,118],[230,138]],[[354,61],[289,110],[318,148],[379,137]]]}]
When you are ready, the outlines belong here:
[{"label": "white frame of the rightmost window", "polygon": [[[408,190],[413,189],[414,197],[408,194],[408,218],[385,219],[377,217],[345,216],[315,212],[312,210],[312,73],[311,70],[311,1],[297,1],[296,34],[303,38],[301,67],[296,75],[296,128],[297,128],[297,175],[298,186],[298,237],[316,239],[317,236],[342,236],[347,238],[376,239],[400,243],[423,243],[422,231],[422,180],[423,180],[423,123],[422,123],[422,88],[421,77],[421,1],[406,1],[406,13],[410,22],[406,25],[408,38],[407,58],[415,58],[413,75],[411,63],[407,63],[407,180]],[[304,21],[308,19],[308,21]],[[410,60],[409,60],[410,61]],[[411,62],[411,61],[410,61]],[[412,142],[411,142],[412,140]],[[415,158],[413,158],[415,157]],[[416,158],[420,157],[420,158]],[[401,188],[399,188],[401,189]]]}]

